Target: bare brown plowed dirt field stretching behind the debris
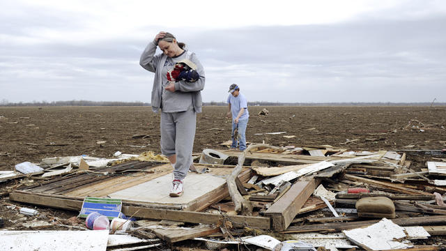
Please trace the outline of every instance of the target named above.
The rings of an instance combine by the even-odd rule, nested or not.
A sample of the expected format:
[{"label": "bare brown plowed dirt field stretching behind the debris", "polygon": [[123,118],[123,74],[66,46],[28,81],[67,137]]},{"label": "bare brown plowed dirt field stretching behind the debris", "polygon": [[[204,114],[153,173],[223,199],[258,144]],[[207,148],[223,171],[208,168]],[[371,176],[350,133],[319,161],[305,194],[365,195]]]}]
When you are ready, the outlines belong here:
[{"label": "bare brown plowed dirt field stretching behind the debris", "polygon": [[[269,114],[258,115],[262,109],[268,109]],[[231,137],[231,120],[226,118],[226,112],[227,107],[203,107],[203,113],[197,116],[194,153],[207,148],[226,149],[220,145]],[[331,145],[334,149],[363,151],[446,149],[446,107],[277,106],[249,107],[249,114],[247,142],[252,143]],[[0,170],[57,156],[111,158],[116,151],[159,154],[159,114],[151,112],[151,107],[0,107]],[[413,169],[425,167],[425,157],[408,155],[408,160]],[[22,216],[10,205],[35,208],[6,197],[9,190],[26,182],[0,183],[0,211],[5,227],[23,229]],[[37,209],[45,220],[54,218],[67,225],[70,223],[65,221],[77,215],[52,208]]]}]

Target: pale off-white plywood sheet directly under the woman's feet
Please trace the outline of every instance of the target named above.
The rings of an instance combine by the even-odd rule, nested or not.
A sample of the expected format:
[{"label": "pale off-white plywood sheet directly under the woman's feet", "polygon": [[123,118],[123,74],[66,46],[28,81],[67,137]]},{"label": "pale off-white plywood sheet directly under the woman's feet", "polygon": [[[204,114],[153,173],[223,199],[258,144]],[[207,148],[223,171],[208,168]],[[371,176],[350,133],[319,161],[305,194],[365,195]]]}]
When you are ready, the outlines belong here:
[{"label": "pale off-white plywood sheet directly under the woman's feet", "polygon": [[130,188],[113,192],[108,196],[128,201],[141,201],[155,204],[192,203],[195,199],[224,185],[226,180],[211,174],[187,174],[184,179],[184,193],[181,197],[169,197],[172,174],[166,174]]}]

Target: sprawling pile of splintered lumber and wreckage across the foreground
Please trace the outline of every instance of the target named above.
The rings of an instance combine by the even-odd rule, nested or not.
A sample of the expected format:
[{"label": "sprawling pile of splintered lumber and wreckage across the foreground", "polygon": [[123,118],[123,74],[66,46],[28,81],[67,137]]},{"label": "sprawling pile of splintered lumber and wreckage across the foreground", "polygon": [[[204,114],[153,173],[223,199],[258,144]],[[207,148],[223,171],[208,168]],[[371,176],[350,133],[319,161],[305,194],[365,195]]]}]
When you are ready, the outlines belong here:
[{"label": "sprawling pile of splintered lumber and wreckage across the foreground", "polygon": [[[25,250],[85,244],[143,250],[181,241],[203,250],[440,250],[429,239],[446,233],[446,152],[414,151],[266,144],[243,152],[205,149],[194,154],[194,168],[203,172],[187,175],[178,198],[168,196],[171,165],[154,153],[23,162],[15,172],[0,173],[0,182],[22,181],[1,195],[11,201],[3,210],[22,216],[0,218],[0,242],[8,250],[18,250],[17,243]],[[413,153],[431,161],[413,167]],[[46,207],[79,215],[58,218]],[[88,231],[90,213],[112,222]],[[13,221],[21,227],[10,227]]]}]

